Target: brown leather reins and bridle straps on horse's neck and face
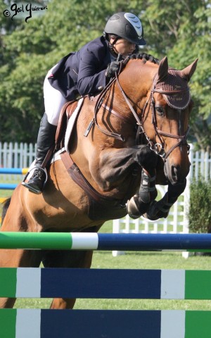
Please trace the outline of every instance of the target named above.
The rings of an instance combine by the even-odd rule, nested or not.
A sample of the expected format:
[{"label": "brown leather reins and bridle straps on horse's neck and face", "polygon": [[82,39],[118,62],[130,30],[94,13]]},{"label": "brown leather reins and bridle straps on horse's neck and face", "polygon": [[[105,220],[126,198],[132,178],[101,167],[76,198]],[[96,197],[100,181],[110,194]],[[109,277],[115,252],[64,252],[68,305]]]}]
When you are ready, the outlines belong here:
[{"label": "brown leather reins and bridle straps on horse's neck and face", "polygon": [[[110,113],[113,113],[118,118],[121,118],[122,120],[125,120],[128,123],[127,118],[124,118],[124,116],[120,115],[119,113],[117,113],[116,111],[111,109],[110,107],[106,106],[106,104],[103,104],[103,101],[106,97],[106,94],[108,93],[108,90],[110,89],[110,87],[113,85],[114,82],[117,82],[117,85],[120,89],[120,92],[121,92],[122,96],[124,97],[124,101],[127,103],[127,106],[129,106],[129,109],[132,112],[132,114],[134,115],[134,118],[136,120],[136,124],[139,126],[137,134],[143,133],[145,135],[145,137],[148,141],[148,144],[151,146],[151,149],[153,151],[155,151],[156,154],[160,155],[163,158],[163,161],[167,160],[167,157],[172,153],[172,151],[174,149],[177,148],[177,146],[186,145],[187,149],[189,150],[190,146],[187,143],[187,136],[188,136],[188,132],[189,132],[189,129],[190,129],[189,126],[188,126],[184,135],[177,135],[177,134],[172,134],[170,132],[163,132],[162,130],[159,130],[158,125],[157,125],[157,120],[156,120],[155,100],[153,98],[153,94],[155,92],[160,93],[160,94],[170,95],[170,94],[179,94],[181,92],[184,92],[184,90],[162,91],[160,89],[156,89],[156,75],[155,75],[154,80],[153,80],[153,86],[152,86],[152,89],[151,89],[151,95],[150,95],[148,101],[146,101],[146,104],[144,105],[143,109],[141,108],[143,113],[141,114],[141,120],[140,120],[139,115],[136,113],[132,104],[130,103],[129,99],[127,98],[127,95],[124,93],[124,90],[122,89],[120,82],[119,82],[119,79],[118,79],[118,75],[121,73],[122,68],[124,68],[124,65],[128,61],[129,61],[129,58],[125,58],[123,61],[121,61],[121,66],[120,66],[120,70],[119,70],[118,74],[115,73],[115,77],[113,77],[110,80],[110,82],[103,89],[101,94],[98,96],[98,99],[96,101],[96,105],[95,105],[95,108],[94,108],[94,121],[93,121],[96,124],[96,127],[98,127],[98,129],[101,130],[101,132],[103,132],[103,134],[106,134],[110,137],[115,137],[116,139],[120,139],[122,142],[124,142],[124,136],[122,134],[117,134],[115,132],[109,132],[108,130],[104,130],[98,125],[98,122],[97,122],[97,113],[102,106],[103,108],[106,108],[106,110],[109,111]],[[148,137],[148,135],[146,134],[146,131],[144,130],[144,127],[143,127],[143,124],[144,124],[143,118],[144,118],[144,115],[146,113],[146,108],[148,107],[148,105],[151,106],[151,109],[152,109],[152,123],[153,123],[155,133],[160,140],[160,143],[153,142],[153,140],[151,140]],[[162,136],[172,137],[174,139],[178,139],[178,143],[174,144],[174,146],[172,146],[167,151],[167,153],[165,152],[165,142],[163,141]],[[136,136],[136,138],[137,138],[137,136]]]}]

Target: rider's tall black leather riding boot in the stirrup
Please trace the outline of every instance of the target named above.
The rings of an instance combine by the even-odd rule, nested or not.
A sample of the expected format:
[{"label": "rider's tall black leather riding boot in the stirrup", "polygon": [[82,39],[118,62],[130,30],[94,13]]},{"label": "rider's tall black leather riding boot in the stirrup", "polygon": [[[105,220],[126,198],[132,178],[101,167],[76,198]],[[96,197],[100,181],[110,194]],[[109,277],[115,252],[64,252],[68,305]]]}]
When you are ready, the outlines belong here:
[{"label": "rider's tall black leather riding boot in the stirrup", "polygon": [[[41,194],[44,188],[44,184],[46,182],[46,172],[43,168],[43,162],[49,149],[55,142],[56,128],[56,125],[51,125],[51,123],[49,123],[45,113],[41,119],[37,137],[37,151],[36,160],[34,163],[34,173],[28,182],[25,182],[25,180],[22,182],[22,185],[27,187],[30,192],[34,192],[34,194]],[[26,178],[27,176],[25,179]]]}]

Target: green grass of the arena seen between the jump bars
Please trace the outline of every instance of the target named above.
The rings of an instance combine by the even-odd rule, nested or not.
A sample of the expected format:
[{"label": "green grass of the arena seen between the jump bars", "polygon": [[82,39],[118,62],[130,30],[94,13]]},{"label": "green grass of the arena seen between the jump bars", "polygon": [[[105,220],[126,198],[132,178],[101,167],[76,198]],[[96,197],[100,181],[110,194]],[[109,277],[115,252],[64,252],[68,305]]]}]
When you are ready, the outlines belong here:
[{"label": "green grass of the arena seen between the jump bars", "polygon": [[[11,191],[0,191],[0,197],[11,196]],[[105,223],[101,232],[112,232],[112,221]],[[110,251],[95,251],[92,268],[186,269],[210,270],[211,257],[190,256],[184,259],[176,252],[127,252],[113,257]],[[200,287],[200,285],[198,286]],[[15,308],[49,308],[51,299],[17,299]],[[77,299],[75,308],[84,309],[143,309],[143,310],[210,310],[210,301],[137,300],[137,299]]]}]

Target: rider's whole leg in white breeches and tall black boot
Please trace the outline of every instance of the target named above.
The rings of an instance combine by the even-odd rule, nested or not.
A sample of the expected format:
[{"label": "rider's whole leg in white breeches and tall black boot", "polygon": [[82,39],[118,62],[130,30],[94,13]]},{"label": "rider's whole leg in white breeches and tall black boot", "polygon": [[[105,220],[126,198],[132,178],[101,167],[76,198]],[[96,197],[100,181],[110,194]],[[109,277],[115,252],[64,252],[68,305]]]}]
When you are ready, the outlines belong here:
[{"label": "rider's whole leg in white breeches and tall black boot", "polygon": [[45,165],[43,162],[49,149],[55,142],[60,110],[67,102],[62,94],[49,84],[48,77],[50,74],[51,70],[49,70],[49,73],[46,75],[44,81],[44,104],[46,113],[41,120],[37,137],[37,153],[34,164],[35,170],[30,180],[22,183],[24,187],[27,187],[35,194],[41,194],[44,188],[44,183],[46,182],[46,172],[44,171]]}]

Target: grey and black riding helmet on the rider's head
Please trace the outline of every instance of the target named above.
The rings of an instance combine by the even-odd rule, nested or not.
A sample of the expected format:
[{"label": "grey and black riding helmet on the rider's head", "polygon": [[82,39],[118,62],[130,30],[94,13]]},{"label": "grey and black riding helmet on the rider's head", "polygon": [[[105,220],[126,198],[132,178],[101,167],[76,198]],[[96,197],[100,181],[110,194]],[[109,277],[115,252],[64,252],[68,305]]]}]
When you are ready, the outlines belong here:
[{"label": "grey and black riding helmet on the rider's head", "polygon": [[119,12],[113,14],[104,29],[106,38],[108,34],[114,34],[123,39],[127,39],[132,44],[144,45],[143,27],[141,21],[132,13]]}]

